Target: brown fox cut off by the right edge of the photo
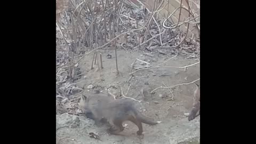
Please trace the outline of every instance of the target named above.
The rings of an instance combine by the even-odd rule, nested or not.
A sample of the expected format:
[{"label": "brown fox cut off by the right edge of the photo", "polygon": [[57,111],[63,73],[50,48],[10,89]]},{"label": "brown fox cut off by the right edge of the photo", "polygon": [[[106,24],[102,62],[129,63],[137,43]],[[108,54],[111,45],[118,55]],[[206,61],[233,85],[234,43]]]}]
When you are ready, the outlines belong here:
[{"label": "brown fox cut off by the right edge of the photo", "polygon": [[[197,112],[199,111],[199,114]],[[196,84],[196,90],[194,91],[193,108],[188,116],[188,121],[192,121],[200,115],[200,86]]]}]

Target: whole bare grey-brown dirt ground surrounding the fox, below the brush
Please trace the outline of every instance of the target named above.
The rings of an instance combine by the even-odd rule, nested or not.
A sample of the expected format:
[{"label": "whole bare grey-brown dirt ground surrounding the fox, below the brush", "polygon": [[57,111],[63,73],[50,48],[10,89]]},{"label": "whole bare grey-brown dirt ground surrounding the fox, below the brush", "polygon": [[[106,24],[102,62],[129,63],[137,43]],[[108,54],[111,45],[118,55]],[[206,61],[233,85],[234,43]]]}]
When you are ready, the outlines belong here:
[{"label": "whole bare grey-brown dirt ground surrounding the fox, below the brush", "polygon": [[[121,87],[127,97],[134,98],[138,109],[146,116],[154,118],[162,123],[155,126],[143,124],[143,138],[138,137],[136,131],[138,127],[130,122],[125,122],[125,136],[109,135],[106,132],[108,126],[95,126],[94,122],[85,116],[71,114],[56,115],[56,141],[57,143],[199,143],[200,138],[200,117],[188,122],[186,113],[189,113],[193,103],[193,92],[195,84],[175,86],[173,89],[158,89],[153,94],[151,90],[159,86],[174,86],[182,83],[195,81],[200,77],[199,63],[197,65],[184,68],[154,68],[139,70],[130,79],[131,65],[135,59],[135,68],[147,68],[157,66],[175,54],[161,54],[159,52],[135,52],[118,50],[119,76],[116,76],[116,62],[114,50],[99,51],[102,53],[103,69],[98,70],[95,65],[91,70],[93,54],[85,57],[79,62],[82,78],[77,80],[77,85],[83,87],[83,91],[77,94],[93,93],[99,90],[101,93],[119,94]],[[109,56],[111,55],[111,58]],[[167,61],[161,66],[183,67],[191,65],[198,60],[187,59],[185,55]],[[134,71],[134,69],[133,69]],[[130,81],[129,81],[130,79]],[[199,81],[196,83],[199,84]],[[129,88],[130,86],[130,88]],[[174,99],[171,100],[173,90]],[[142,95],[142,91],[146,94]],[[77,105],[77,104],[76,104]],[[93,132],[99,139],[89,137]]]}]

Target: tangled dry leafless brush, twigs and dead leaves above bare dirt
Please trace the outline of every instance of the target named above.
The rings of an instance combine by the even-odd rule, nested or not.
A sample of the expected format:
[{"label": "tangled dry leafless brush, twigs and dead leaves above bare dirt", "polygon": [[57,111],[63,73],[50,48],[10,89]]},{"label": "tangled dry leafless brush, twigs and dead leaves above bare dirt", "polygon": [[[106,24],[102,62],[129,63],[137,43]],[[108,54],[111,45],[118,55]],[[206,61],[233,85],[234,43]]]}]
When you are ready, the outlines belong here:
[{"label": "tangled dry leafless brush, twigs and dead leaves above bare dirt", "polygon": [[[140,6],[134,5],[134,0],[56,1],[57,114],[65,112],[79,114],[80,112],[79,109],[76,109],[79,97],[75,94],[81,93],[83,89],[76,85],[76,81],[84,75],[78,68],[78,63],[86,55],[94,55],[91,70],[96,63],[97,70],[101,70],[104,64],[101,60],[100,50],[115,51],[117,76],[119,75],[117,49],[156,51],[162,54],[173,53],[174,57],[181,54],[187,55],[188,58],[199,59],[200,45],[198,41],[188,37],[188,30],[182,31],[179,28],[182,25],[186,25],[187,28],[193,25],[200,32],[199,22],[196,21],[199,16],[195,17],[195,12],[191,11],[190,7],[186,9],[180,5],[175,11],[170,12],[167,19],[157,19],[157,14],[165,6],[164,1],[158,5],[155,1],[152,11],[147,9],[142,1],[137,0],[137,2]],[[189,5],[188,0],[182,3]],[[173,23],[172,15],[181,10],[188,11],[189,17],[185,21],[179,20],[178,23]],[[136,59],[134,63],[136,61],[145,62],[148,65],[147,61]],[[186,70],[199,62],[187,66],[164,66],[164,62],[157,66],[132,71],[134,63],[131,63],[131,78],[136,78],[135,73],[143,69],[164,67]],[[165,85],[153,91],[166,88],[172,92],[171,89],[174,86]],[[122,97],[126,97],[125,95],[122,91]]]}]

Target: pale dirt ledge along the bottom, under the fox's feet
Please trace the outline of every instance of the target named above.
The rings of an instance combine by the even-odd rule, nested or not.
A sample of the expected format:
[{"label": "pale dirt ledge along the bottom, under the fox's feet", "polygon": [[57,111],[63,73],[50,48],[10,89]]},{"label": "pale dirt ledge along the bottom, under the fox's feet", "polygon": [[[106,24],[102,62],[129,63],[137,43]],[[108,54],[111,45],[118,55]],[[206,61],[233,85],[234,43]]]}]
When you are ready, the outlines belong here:
[{"label": "pale dirt ledge along the bottom, under the fox's feet", "polygon": [[[106,126],[97,127],[92,120],[82,116],[62,114],[56,119],[57,143],[199,143],[199,117],[191,122],[187,118],[170,119],[157,126],[148,126],[143,139],[137,137],[135,131],[133,134],[125,132],[125,137],[109,135]],[[97,133],[100,140],[90,138],[89,132]]]}]

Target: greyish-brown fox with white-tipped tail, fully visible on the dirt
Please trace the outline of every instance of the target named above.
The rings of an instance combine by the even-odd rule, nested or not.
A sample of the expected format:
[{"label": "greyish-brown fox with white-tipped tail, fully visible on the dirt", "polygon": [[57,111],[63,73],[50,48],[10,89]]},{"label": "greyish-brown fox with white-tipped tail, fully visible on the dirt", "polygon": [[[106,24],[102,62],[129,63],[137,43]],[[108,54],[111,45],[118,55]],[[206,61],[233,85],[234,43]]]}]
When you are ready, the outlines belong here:
[{"label": "greyish-brown fox with white-tipped tail, fully visible on the dirt", "polygon": [[138,135],[143,132],[142,123],[156,125],[161,123],[155,122],[153,119],[142,115],[135,109],[133,102],[128,99],[114,99],[107,94],[91,94],[89,96],[82,95],[79,106],[84,113],[91,113],[91,119],[94,119],[95,124],[102,120],[107,120],[111,125],[108,132],[110,134],[119,134],[124,130],[123,122],[131,121],[138,126]]}]

